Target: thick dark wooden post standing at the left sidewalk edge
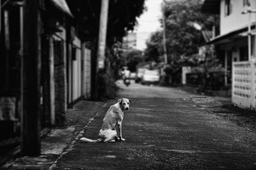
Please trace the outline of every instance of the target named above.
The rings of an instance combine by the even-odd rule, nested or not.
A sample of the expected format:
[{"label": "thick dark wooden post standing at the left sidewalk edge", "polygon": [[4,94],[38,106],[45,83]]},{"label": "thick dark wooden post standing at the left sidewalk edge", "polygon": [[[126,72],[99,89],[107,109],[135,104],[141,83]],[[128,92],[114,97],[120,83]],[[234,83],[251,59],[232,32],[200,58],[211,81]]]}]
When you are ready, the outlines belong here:
[{"label": "thick dark wooden post standing at the left sidewalk edge", "polygon": [[24,3],[24,57],[22,58],[21,153],[40,155],[40,10],[38,1]]}]

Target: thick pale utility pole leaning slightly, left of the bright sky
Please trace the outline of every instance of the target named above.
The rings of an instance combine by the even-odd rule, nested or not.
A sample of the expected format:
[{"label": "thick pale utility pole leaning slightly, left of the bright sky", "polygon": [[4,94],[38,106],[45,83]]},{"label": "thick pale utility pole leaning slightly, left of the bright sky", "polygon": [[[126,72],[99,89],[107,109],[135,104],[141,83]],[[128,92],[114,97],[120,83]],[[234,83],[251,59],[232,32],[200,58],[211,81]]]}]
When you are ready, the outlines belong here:
[{"label": "thick pale utility pole leaning slightly, left of the bright sky", "polygon": [[97,56],[95,59],[96,62],[96,73],[93,87],[93,99],[98,97],[98,74],[99,69],[104,68],[104,59],[105,59],[105,49],[106,49],[106,36],[107,36],[107,27],[108,27],[108,6],[109,0],[101,0],[101,10],[100,10],[100,24],[99,24],[99,41]]}]

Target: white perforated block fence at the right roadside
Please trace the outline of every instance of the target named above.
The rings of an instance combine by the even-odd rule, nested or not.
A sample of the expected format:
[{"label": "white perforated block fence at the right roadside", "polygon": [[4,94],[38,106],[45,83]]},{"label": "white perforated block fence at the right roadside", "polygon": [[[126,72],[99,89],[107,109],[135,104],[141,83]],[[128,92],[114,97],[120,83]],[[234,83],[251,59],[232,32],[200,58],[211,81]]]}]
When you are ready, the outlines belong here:
[{"label": "white perforated block fence at the right roadside", "polygon": [[233,62],[232,103],[240,108],[255,110],[255,73],[255,62]]}]

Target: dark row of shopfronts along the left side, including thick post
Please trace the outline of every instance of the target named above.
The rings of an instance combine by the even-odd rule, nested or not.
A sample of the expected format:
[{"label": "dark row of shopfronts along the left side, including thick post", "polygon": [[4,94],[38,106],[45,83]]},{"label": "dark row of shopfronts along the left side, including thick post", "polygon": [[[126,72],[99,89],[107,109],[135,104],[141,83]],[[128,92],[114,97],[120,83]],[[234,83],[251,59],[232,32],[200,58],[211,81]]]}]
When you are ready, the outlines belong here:
[{"label": "dark row of shopfronts along the left side, including thick post", "polygon": [[90,97],[90,49],[65,0],[0,4],[0,143],[38,155],[42,132]]}]

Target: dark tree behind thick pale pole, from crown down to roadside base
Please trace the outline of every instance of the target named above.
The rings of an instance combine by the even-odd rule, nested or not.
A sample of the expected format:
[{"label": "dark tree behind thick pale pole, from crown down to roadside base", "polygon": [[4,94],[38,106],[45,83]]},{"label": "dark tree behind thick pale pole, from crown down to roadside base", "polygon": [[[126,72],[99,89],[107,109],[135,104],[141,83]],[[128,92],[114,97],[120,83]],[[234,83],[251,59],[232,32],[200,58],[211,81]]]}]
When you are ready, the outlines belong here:
[{"label": "dark tree behind thick pale pole, from crown down to roadside base", "polygon": [[[112,56],[113,46],[122,41],[127,31],[132,31],[137,18],[145,10],[145,0],[113,0],[109,1],[108,29],[106,38],[105,68],[97,74],[97,41],[99,35],[100,4],[102,0],[67,0],[68,6],[79,25],[78,36],[92,50],[92,98],[94,100],[111,97],[109,92],[116,93],[115,78],[111,62],[118,56]],[[95,76],[96,75],[96,76]],[[96,80],[97,78],[97,80]],[[104,81],[104,82],[102,82]],[[97,83],[98,82],[98,83]],[[97,84],[102,86],[97,87]],[[99,92],[97,96],[96,92]]]}]

